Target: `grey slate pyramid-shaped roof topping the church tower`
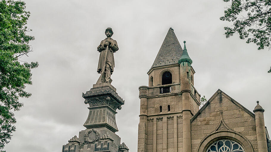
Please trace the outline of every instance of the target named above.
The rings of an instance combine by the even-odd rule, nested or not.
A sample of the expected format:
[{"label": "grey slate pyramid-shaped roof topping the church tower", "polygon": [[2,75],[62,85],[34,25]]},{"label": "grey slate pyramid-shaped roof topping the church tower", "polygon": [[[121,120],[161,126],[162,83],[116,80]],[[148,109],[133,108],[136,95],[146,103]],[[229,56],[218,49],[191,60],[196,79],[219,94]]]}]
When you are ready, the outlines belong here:
[{"label": "grey slate pyramid-shaped roof topping the church tower", "polygon": [[166,34],[164,42],[152,64],[151,68],[178,63],[183,49],[172,28]]}]

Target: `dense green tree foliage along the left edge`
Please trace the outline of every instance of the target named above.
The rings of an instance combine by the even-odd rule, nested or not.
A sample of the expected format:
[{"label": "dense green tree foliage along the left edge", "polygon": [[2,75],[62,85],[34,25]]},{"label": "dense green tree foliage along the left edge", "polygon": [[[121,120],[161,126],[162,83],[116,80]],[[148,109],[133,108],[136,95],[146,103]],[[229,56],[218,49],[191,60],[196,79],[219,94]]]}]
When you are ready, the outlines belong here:
[{"label": "dense green tree foliage along the left edge", "polygon": [[30,12],[23,1],[0,0],[0,151],[15,131],[13,111],[20,110],[19,98],[28,98],[25,91],[31,82],[31,69],[38,62],[24,62],[20,58],[31,52],[29,41],[34,40],[26,32]]}]

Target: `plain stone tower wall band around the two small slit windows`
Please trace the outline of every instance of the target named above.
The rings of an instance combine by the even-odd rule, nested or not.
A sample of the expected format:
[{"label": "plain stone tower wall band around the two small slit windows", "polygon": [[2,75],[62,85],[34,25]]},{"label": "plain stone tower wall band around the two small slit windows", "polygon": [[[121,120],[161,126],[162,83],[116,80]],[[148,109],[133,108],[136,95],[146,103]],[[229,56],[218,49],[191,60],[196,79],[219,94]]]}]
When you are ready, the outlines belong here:
[{"label": "plain stone tower wall band around the two small slit windows", "polygon": [[147,104],[147,115],[159,114],[160,106],[161,113],[168,113],[167,106],[170,105],[170,112],[180,112],[183,110],[182,95],[162,96],[149,98]]}]

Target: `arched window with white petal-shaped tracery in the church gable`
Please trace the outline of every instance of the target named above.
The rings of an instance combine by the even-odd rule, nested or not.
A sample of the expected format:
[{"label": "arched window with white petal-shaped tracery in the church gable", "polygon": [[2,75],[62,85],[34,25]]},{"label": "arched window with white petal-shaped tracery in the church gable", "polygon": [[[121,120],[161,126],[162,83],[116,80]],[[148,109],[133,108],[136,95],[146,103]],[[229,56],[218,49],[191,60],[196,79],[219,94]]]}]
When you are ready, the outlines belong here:
[{"label": "arched window with white petal-shaped tracery in the church gable", "polygon": [[206,152],[244,152],[244,148],[232,140],[219,140],[210,145]]}]

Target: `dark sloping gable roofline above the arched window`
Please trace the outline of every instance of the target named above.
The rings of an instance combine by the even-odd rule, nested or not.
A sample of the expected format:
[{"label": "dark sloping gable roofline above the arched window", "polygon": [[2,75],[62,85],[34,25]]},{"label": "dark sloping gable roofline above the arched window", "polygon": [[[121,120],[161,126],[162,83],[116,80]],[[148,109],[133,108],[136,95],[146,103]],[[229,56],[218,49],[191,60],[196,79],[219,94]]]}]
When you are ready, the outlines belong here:
[{"label": "dark sloping gable roofline above the arched window", "polygon": [[227,95],[226,93],[224,93],[223,91],[221,91],[220,89],[217,90],[216,93],[214,93],[214,95],[211,96],[211,98],[203,105],[203,107],[200,108],[200,110],[191,118],[191,123],[203,112],[203,110],[214,100],[214,98],[217,97],[217,95],[223,95],[225,98],[227,98],[229,101],[231,101],[233,104],[235,104],[236,106],[238,106],[239,108],[241,108],[242,110],[244,110],[247,114],[249,114],[251,117],[255,118],[255,115],[253,112],[251,112],[250,110],[248,110],[246,107],[244,107],[242,104],[239,104],[239,102],[237,102],[236,100],[234,100],[233,98],[231,98],[229,95]]}]

